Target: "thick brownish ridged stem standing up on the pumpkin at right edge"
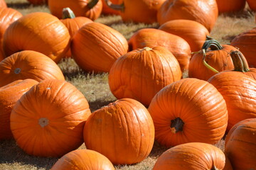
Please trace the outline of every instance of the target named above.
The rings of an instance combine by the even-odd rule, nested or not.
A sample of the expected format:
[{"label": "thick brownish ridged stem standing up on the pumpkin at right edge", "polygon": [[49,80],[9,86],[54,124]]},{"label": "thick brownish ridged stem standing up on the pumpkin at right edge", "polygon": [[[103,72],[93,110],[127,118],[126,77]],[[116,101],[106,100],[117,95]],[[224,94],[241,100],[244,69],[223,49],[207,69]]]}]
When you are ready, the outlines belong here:
[{"label": "thick brownish ridged stem standing up on the pumpkin at right edge", "polygon": [[247,60],[245,59],[245,56],[243,56],[240,51],[231,51],[230,57],[235,67],[234,71],[237,71],[237,72],[250,71]]}]

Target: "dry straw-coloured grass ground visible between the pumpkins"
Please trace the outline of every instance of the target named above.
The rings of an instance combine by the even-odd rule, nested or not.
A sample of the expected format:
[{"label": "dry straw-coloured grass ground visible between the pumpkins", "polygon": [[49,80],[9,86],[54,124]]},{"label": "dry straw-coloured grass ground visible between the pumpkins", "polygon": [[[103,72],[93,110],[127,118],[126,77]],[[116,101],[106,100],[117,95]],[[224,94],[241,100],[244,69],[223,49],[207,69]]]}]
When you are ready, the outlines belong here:
[{"label": "dry straw-coloured grass ground visible between the pumpkins", "polygon": [[[23,15],[34,11],[48,12],[47,6],[32,6],[26,0],[6,0],[9,7],[16,8]],[[127,40],[132,34],[141,28],[158,28],[158,24],[154,23],[146,25],[144,23],[123,23],[119,16],[101,16],[96,22],[105,23],[124,35]],[[218,18],[215,28],[213,28],[210,36],[220,41],[220,43],[229,43],[235,35],[245,30],[254,28],[254,16],[250,11],[243,13],[235,13],[230,15],[221,15]],[[92,111],[115,101],[116,98],[111,94],[107,84],[108,74],[88,74],[83,72],[75,61],[72,59],[62,60],[59,64],[65,79],[76,86],[82,94],[85,95],[90,103]],[[220,149],[224,149],[224,141],[220,141],[217,145]],[[82,145],[80,149],[85,148]],[[130,166],[115,166],[116,169],[152,169],[157,157],[167,148],[161,147],[155,142],[149,157],[139,164]],[[29,156],[23,152],[14,140],[0,141],[0,169],[50,169],[57,161],[55,158],[41,158]]]}]

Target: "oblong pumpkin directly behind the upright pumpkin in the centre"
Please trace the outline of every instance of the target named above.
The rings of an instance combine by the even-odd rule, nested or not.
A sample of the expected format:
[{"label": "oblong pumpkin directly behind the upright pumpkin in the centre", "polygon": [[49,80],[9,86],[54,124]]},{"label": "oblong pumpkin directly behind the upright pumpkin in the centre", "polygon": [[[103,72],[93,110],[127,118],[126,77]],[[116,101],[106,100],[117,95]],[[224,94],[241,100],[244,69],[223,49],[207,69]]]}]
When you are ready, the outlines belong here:
[{"label": "oblong pumpkin directly behind the upright pumpkin in the centre", "polygon": [[155,28],[142,28],[129,38],[128,45],[129,50],[156,46],[166,47],[178,60],[181,72],[186,73],[188,71],[191,48],[186,40],[177,35]]}]

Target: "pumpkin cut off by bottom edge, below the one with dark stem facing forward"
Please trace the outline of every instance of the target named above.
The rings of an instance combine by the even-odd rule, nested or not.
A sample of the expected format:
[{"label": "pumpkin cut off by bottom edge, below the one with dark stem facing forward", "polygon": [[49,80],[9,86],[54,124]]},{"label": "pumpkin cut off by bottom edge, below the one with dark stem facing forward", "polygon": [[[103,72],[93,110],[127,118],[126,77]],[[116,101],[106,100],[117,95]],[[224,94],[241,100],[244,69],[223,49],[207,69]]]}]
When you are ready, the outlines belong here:
[{"label": "pumpkin cut off by bottom edge, below the one with dark stem facing forward", "polygon": [[190,142],[171,147],[160,155],[153,170],[223,169],[225,154],[214,145]]}]

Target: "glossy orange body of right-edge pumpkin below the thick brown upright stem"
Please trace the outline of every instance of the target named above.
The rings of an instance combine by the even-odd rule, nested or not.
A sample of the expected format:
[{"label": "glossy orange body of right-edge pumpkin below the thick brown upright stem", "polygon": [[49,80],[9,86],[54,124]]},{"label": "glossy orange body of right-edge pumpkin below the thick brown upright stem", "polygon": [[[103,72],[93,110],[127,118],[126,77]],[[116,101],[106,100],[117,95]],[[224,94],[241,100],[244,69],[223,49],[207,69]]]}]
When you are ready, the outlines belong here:
[{"label": "glossy orange body of right-edge pumpkin below the thick brown upright stem", "polygon": [[225,71],[208,80],[222,94],[228,108],[228,128],[247,118],[256,118],[256,81],[241,72]]}]

